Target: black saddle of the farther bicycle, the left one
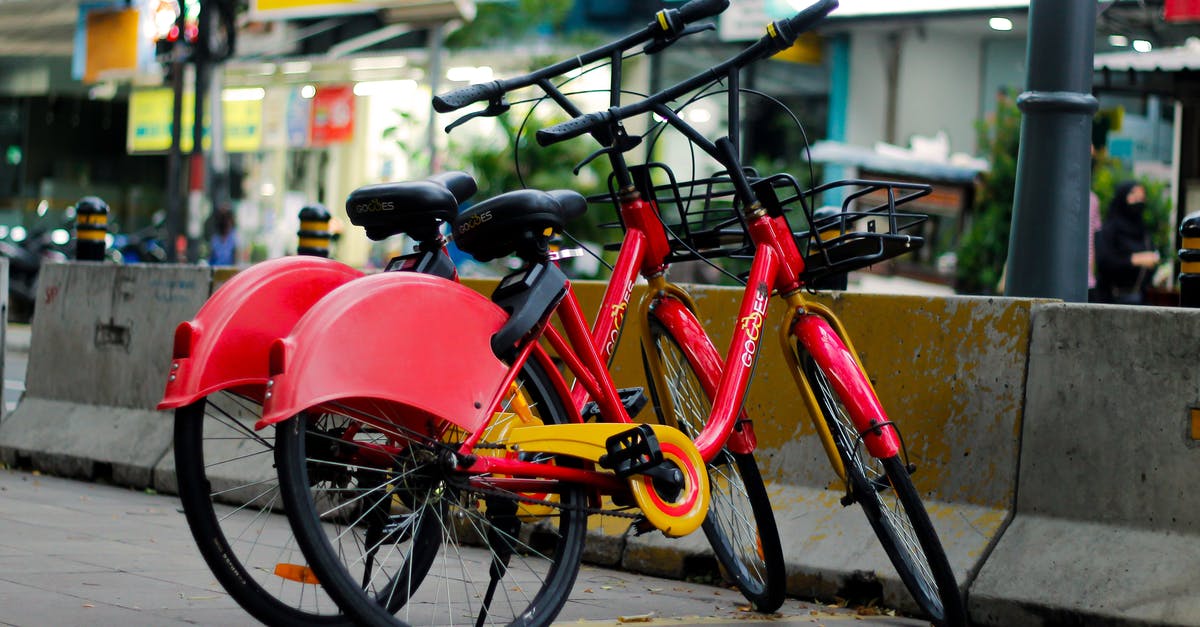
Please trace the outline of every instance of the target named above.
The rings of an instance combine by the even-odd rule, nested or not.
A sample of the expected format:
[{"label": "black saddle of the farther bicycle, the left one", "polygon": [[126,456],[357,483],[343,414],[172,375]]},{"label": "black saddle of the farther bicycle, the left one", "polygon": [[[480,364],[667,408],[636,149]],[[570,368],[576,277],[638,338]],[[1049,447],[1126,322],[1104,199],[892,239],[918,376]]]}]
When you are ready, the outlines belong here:
[{"label": "black saddle of the farther bicycle, the left one", "polygon": [[418,241],[438,237],[442,222],[458,215],[458,203],[478,187],[466,172],[444,172],[424,180],[366,185],[346,198],[350,223],[380,240],[404,233]]}]

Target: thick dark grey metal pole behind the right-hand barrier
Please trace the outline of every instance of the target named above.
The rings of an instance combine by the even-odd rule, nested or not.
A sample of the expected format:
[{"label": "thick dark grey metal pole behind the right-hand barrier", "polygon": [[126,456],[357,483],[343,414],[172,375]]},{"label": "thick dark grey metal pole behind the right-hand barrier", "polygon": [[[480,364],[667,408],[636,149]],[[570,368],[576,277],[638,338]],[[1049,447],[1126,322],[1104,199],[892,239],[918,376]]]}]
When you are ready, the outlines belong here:
[{"label": "thick dark grey metal pole behind the right-hand barrier", "polygon": [[1031,0],[1006,294],[1087,301],[1096,2]]}]

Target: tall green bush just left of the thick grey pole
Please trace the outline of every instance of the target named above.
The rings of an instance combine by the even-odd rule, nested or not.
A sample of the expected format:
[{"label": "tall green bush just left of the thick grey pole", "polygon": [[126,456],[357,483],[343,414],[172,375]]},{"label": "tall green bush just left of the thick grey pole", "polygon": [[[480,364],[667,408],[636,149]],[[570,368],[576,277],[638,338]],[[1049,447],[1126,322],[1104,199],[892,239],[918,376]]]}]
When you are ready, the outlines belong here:
[{"label": "tall green bush just left of the thick grey pole", "polygon": [[959,244],[955,287],[960,293],[990,294],[1004,271],[1013,223],[1021,112],[1010,92],[997,96],[996,112],[976,123],[976,132],[991,167],[979,178],[974,215]]}]

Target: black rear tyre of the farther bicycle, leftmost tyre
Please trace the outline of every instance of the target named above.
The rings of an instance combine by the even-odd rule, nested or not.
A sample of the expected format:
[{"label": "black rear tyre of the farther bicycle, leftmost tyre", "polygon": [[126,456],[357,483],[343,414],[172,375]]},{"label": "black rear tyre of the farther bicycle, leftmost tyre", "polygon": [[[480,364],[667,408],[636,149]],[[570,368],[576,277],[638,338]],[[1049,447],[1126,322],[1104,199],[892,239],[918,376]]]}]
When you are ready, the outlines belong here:
[{"label": "black rear tyre of the farther bicycle, leftmost tyre", "polygon": [[[246,569],[229,545],[212,504],[204,460],[204,418],[208,398],[175,410],[175,476],[184,518],[200,556],[226,592],[254,619],[266,625],[349,626],[346,615],[313,614],[283,603]],[[270,456],[274,460],[274,455]],[[336,609],[331,608],[331,609]]]}]

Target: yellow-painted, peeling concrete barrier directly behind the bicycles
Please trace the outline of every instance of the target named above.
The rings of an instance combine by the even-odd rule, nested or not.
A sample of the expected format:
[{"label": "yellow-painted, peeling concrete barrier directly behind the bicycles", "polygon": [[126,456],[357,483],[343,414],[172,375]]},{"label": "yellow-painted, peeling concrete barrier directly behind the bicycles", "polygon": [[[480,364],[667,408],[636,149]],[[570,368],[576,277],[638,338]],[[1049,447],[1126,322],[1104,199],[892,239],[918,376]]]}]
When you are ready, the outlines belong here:
[{"label": "yellow-painted, peeling concrete barrier directly behind the bicycles", "polygon": [[[472,285],[490,293],[494,282]],[[584,312],[593,316],[604,286],[577,282],[575,288]],[[740,289],[689,291],[724,354]],[[644,286],[635,287],[631,303],[643,293]],[[918,466],[913,483],[966,590],[1012,515],[1036,301],[856,293],[815,299],[846,326],[884,408],[900,425]],[[862,508],[839,502],[839,482],[774,339],[785,309],[772,301],[764,326],[772,339],[761,353],[746,411],[755,420],[756,456],[780,527],[788,593],[882,597],[888,605],[916,609]],[[626,316],[613,359],[618,387],[646,386],[636,318]],[[653,410],[643,410],[640,419],[653,420]],[[628,521],[619,519],[594,525],[589,559],[676,578],[715,571],[703,535],[672,541],[656,533],[624,536]]]}]

